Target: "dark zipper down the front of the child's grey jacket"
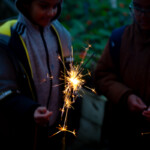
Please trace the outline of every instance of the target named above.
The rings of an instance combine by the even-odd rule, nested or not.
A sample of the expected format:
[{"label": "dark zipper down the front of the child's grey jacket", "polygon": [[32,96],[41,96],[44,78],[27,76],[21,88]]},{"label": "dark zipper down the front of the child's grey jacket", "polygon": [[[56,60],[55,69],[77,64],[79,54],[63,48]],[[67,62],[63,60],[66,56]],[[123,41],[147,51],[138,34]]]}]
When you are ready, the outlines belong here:
[{"label": "dark zipper down the front of the child's grey jacket", "polygon": [[[44,48],[45,48],[48,74],[49,74],[50,77],[51,77],[52,73],[51,73],[51,69],[50,69],[50,59],[49,59],[49,54],[48,54],[48,48],[47,48],[47,45],[46,45],[46,41],[45,41],[44,35],[43,35],[43,29],[40,29],[40,34],[41,34],[41,38],[42,38],[42,41],[43,41],[43,44],[44,44]],[[52,93],[52,80],[50,79],[50,91],[49,91],[49,96],[48,96],[48,100],[47,100],[47,104],[46,104],[46,107],[47,107],[47,108],[48,108],[48,106],[49,106],[51,93]]]}]

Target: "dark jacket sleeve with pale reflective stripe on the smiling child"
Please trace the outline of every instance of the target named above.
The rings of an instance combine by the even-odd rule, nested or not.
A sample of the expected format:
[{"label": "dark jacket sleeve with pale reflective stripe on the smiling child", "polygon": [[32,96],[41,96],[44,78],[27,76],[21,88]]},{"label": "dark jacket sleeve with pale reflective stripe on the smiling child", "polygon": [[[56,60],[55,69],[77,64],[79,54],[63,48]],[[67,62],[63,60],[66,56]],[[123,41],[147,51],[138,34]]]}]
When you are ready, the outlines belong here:
[{"label": "dark jacket sleeve with pale reflective stripe on the smiling child", "polygon": [[15,67],[7,49],[0,47],[0,109],[7,110],[10,116],[32,115],[39,105],[24,96],[18,87]]}]

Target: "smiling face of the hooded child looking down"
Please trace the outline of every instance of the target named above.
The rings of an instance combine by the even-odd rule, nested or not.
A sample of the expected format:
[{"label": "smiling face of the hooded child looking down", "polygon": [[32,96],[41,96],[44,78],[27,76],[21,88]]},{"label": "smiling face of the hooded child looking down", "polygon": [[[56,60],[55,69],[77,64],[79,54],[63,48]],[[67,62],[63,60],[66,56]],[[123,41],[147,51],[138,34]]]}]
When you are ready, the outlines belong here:
[{"label": "smiling face of the hooded child looking down", "polygon": [[33,0],[27,6],[31,21],[39,26],[48,25],[56,16],[60,0]]}]

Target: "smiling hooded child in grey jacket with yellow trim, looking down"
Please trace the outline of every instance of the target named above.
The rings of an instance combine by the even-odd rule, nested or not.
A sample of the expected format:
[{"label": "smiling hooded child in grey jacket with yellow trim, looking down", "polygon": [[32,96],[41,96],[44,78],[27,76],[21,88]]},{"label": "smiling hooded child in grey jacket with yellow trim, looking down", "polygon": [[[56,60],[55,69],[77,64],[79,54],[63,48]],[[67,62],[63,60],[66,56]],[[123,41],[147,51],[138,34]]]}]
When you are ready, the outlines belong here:
[{"label": "smiling hooded child in grey jacket with yellow trim, looking down", "polygon": [[18,19],[0,27],[0,140],[5,149],[52,149],[48,136],[63,102],[58,56],[65,64],[71,56],[70,35],[57,20],[62,1],[15,3]]}]

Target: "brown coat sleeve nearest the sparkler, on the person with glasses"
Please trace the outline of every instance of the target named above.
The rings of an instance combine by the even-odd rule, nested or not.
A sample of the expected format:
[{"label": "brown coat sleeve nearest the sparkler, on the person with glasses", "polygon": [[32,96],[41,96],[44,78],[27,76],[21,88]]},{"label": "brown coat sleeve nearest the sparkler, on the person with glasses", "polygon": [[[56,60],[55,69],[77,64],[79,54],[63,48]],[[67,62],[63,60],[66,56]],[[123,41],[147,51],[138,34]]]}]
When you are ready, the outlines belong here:
[{"label": "brown coat sleeve nearest the sparkler, on the person with glasses", "polygon": [[118,103],[132,93],[116,73],[116,66],[112,61],[109,41],[100,57],[94,72],[94,83],[98,94],[104,94],[109,100]]}]

